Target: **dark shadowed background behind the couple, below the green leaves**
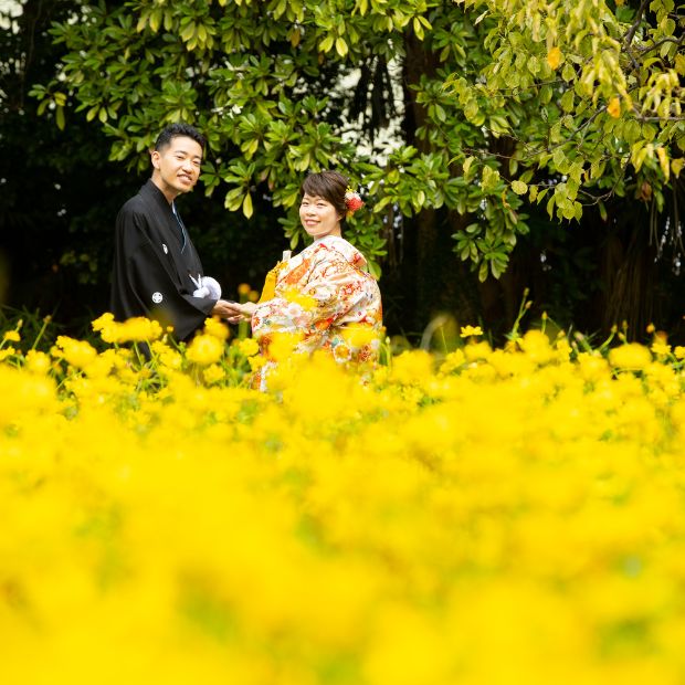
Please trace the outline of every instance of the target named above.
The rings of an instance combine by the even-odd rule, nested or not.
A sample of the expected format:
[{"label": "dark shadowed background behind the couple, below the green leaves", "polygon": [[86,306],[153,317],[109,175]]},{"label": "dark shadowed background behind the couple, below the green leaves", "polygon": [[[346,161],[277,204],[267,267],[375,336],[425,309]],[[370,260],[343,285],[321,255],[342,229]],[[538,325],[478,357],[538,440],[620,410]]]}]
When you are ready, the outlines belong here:
[{"label": "dark shadowed background behind the couple, below the green leaves", "polygon": [[[0,302],[51,314],[65,331],[85,335],[88,323],[108,306],[116,213],[148,172],[109,161],[112,140],[72,105],[60,129],[54,112],[38,116],[38,103],[28,95],[33,84],[54,75],[63,50],[48,29],[72,10],[71,2],[28,0],[14,24],[0,28]],[[359,93],[331,97],[330,107],[340,116],[367,116],[375,134],[390,106],[378,97],[389,88],[384,64],[369,62],[362,76],[370,99],[379,101],[373,107]],[[329,92],[327,78],[335,73],[323,70],[313,92]],[[408,108],[404,135],[410,141],[415,127]],[[254,190],[250,220],[225,210],[220,193],[204,197],[201,185],[179,202],[205,272],[229,297],[236,297],[241,283],[259,289],[264,273],[288,247],[278,221],[283,210],[270,202],[266,185]],[[451,233],[459,218],[452,211],[397,217],[387,226],[388,251],[381,260],[389,334],[417,342],[434,316],[449,314],[460,325],[482,324],[498,337],[510,327],[528,288],[530,324],[546,312],[562,327],[594,333],[630,319],[640,337],[653,322],[673,341],[682,341],[682,238],[668,217],[678,200],[684,205],[683,182],[674,185],[660,219],[650,214],[640,192],[614,197],[602,215],[588,210],[579,223],[561,229],[544,205],[531,208],[530,232],[519,236],[509,267],[499,280],[488,276],[483,283],[454,254]]]}]

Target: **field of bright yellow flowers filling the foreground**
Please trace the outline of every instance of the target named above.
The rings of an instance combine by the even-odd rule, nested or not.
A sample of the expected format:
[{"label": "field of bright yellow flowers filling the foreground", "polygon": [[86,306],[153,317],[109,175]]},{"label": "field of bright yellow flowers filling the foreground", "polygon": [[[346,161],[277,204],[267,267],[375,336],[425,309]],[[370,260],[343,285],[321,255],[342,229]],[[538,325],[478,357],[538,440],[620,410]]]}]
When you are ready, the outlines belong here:
[{"label": "field of bright yellow flowers filling the foreground", "polygon": [[468,327],[259,392],[215,324],[96,324],[2,338],[2,683],[685,682],[682,350]]}]

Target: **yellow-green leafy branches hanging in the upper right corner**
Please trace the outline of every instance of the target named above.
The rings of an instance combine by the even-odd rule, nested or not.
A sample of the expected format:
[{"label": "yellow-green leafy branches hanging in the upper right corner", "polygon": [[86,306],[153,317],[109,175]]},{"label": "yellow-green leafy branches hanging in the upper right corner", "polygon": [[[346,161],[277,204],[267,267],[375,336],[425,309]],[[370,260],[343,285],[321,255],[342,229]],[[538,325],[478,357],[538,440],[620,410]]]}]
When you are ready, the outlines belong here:
[{"label": "yellow-green leafy branches hanging in the upper right corner", "polygon": [[[683,8],[674,0],[460,4],[487,24],[491,60],[478,80],[453,73],[449,89],[472,115],[473,103],[496,103],[502,125],[491,129],[513,140],[513,190],[545,201],[558,220],[646,188],[641,199],[661,211],[685,165]],[[477,161],[492,164],[483,150]]]}]

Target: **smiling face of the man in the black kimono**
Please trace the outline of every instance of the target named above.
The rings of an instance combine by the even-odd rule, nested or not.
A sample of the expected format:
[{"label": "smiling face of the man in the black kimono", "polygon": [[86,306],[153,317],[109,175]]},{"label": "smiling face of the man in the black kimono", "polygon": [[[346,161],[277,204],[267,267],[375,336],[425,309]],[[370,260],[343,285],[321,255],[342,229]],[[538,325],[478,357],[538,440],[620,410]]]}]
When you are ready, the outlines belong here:
[{"label": "smiling face of the man in the black kimono", "polygon": [[154,150],[152,181],[165,193],[167,200],[182,192],[190,192],[198,182],[202,164],[202,147],[187,136],[177,136],[161,150]]}]

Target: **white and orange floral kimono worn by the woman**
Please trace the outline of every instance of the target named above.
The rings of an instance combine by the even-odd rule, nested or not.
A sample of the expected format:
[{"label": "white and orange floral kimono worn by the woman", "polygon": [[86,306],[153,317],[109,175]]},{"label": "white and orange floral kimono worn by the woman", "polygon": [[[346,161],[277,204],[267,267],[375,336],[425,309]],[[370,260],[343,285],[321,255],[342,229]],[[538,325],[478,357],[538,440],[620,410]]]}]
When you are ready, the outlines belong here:
[{"label": "white and orange floral kimono worn by the woman", "polygon": [[346,240],[327,235],[278,264],[273,297],[262,296],[252,316],[262,354],[277,356],[272,346],[289,337],[294,352],[323,349],[337,361],[377,360],[381,299],[376,280],[363,271],[366,263]]}]

